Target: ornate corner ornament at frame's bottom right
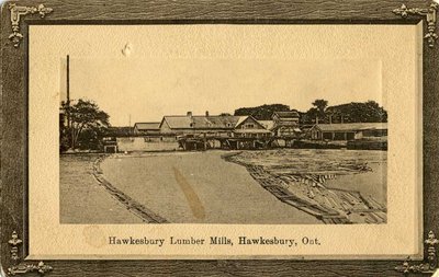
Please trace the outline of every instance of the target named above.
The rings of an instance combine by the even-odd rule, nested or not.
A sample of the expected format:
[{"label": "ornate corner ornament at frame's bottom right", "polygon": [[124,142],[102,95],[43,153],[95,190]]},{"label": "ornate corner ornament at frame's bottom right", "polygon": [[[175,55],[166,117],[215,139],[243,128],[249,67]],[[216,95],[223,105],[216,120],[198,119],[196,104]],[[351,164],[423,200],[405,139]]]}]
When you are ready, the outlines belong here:
[{"label": "ornate corner ornament at frame's bottom right", "polygon": [[432,274],[436,268],[438,267],[438,257],[436,254],[436,245],[439,244],[439,240],[436,239],[436,235],[432,231],[428,232],[427,240],[424,241],[424,244],[426,244],[427,247],[427,262],[417,264],[417,265],[410,265],[410,257],[407,257],[406,261],[404,261],[403,265],[396,266],[395,270],[404,274]]}]

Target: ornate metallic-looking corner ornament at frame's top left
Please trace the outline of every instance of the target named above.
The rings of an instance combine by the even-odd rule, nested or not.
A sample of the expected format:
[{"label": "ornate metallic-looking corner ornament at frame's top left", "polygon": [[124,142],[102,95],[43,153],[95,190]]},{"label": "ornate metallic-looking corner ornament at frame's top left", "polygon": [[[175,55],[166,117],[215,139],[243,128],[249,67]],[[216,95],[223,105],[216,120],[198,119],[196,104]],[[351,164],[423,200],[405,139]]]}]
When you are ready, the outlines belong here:
[{"label": "ornate metallic-looking corner ornament at frame's top left", "polygon": [[10,3],[9,10],[11,11],[11,23],[12,23],[12,34],[9,36],[9,39],[12,41],[14,47],[19,47],[21,39],[23,39],[23,35],[20,33],[21,16],[38,12],[40,16],[44,19],[46,14],[53,12],[52,8],[46,8],[44,4],[40,4],[36,8],[36,7],[20,7],[16,5],[15,3]]}]

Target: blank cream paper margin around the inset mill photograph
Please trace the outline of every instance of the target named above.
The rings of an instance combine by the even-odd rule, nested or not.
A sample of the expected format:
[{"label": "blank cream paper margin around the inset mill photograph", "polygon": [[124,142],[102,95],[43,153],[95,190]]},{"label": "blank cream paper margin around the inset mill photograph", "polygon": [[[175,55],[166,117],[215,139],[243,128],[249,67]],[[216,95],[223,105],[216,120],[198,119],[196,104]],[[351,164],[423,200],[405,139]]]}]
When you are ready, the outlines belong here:
[{"label": "blank cream paper margin around the inset mill photograph", "polygon": [[[381,60],[389,111],[387,223],[60,224],[60,59],[131,58]],[[420,25],[31,25],[29,258],[390,258],[421,253]],[[166,95],[170,96],[170,95]],[[80,199],[78,199],[80,200]],[[92,212],[92,211],[91,211]],[[114,246],[109,235],[226,235],[235,246]],[[318,238],[320,246],[246,246],[237,236]]]}]

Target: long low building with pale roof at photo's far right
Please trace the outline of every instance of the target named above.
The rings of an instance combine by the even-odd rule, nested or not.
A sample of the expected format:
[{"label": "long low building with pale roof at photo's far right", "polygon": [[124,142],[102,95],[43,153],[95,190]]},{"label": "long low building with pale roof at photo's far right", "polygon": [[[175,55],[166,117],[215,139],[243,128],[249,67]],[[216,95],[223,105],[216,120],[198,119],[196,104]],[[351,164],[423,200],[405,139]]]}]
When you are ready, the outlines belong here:
[{"label": "long low building with pale roof at photo's far right", "polygon": [[387,137],[387,123],[316,124],[309,130],[313,140],[358,140]]}]

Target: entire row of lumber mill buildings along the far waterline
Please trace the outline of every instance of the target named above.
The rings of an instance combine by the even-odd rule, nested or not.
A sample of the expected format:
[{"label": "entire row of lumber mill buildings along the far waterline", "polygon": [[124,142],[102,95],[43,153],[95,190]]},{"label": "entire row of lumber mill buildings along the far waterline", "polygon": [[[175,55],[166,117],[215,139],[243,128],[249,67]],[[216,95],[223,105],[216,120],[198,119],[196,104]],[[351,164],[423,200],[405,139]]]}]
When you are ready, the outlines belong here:
[{"label": "entire row of lumber mill buildings along the far waterline", "polygon": [[[251,115],[166,115],[161,122],[136,123],[132,136],[106,141],[105,151],[267,149],[272,147],[386,149],[386,123],[315,124],[301,129],[299,113],[275,112],[272,120]],[[313,142],[314,141],[314,142]]]}]

